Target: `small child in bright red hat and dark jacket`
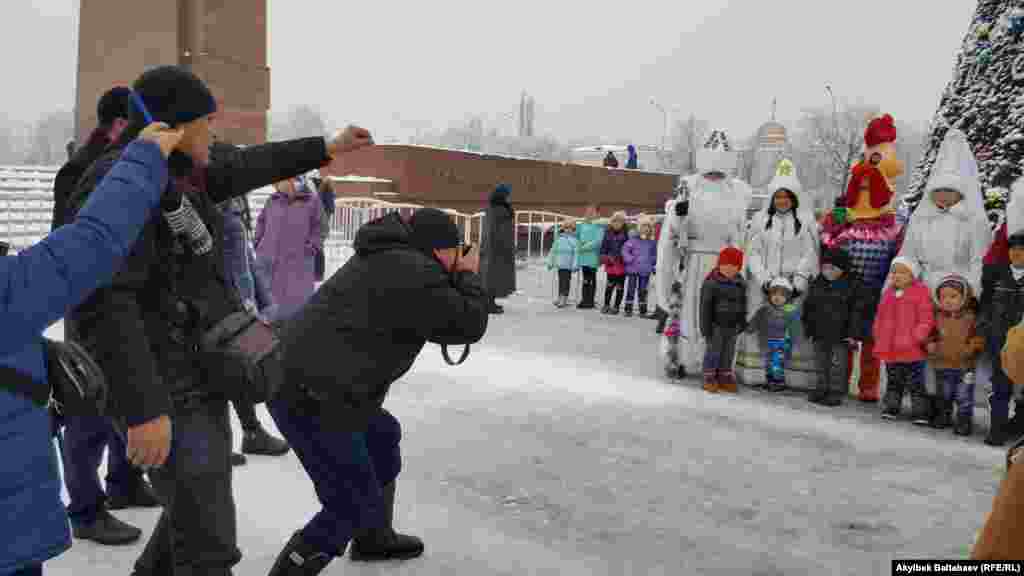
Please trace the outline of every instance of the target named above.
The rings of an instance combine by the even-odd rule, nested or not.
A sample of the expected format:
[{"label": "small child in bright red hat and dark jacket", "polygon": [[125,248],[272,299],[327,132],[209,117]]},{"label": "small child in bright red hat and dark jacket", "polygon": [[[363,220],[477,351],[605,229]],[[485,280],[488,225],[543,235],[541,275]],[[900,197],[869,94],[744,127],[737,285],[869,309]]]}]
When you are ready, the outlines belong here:
[{"label": "small child in bright red hat and dark jacket", "polygon": [[732,362],[736,338],[746,327],[746,283],[739,275],[743,253],[732,246],[718,254],[718,266],[700,287],[700,335],[707,341],[705,384],[710,393],[736,393]]}]

